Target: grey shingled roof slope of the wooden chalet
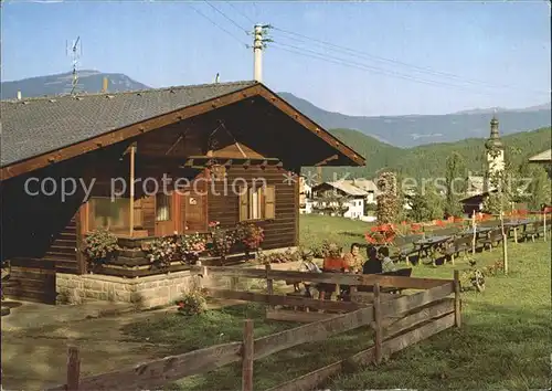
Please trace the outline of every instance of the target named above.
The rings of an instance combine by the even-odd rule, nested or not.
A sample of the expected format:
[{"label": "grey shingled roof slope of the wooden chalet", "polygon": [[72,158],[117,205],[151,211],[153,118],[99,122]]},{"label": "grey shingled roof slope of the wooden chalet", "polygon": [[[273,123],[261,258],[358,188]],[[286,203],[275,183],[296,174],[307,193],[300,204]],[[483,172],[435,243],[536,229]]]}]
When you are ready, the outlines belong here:
[{"label": "grey shingled roof slope of the wooden chalet", "polygon": [[234,82],[116,94],[2,101],[0,167],[255,84]]}]

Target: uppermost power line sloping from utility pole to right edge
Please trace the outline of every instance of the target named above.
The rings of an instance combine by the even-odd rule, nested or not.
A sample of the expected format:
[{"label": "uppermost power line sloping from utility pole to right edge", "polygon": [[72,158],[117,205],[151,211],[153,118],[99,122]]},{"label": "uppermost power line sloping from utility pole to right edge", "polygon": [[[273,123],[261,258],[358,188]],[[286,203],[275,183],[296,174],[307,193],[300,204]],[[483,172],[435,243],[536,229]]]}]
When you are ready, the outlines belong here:
[{"label": "uppermost power line sloping from utility pole to right edge", "polygon": [[[420,72],[420,73],[426,73],[426,74],[429,74],[429,75],[440,76],[440,77],[445,77],[445,78],[449,78],[449,80],[455,80],[455,81],[459,81],[459,82],[465,82],[465,83],[469,83],[469,84],[474,84],[474,85],[486,85],[486,86],[492,87],[492,88],[510,88],[510,89],[519,89],[519,91],[529,92],[528,89],[519,88],[519,87],[516,87],[516,86],[496,85],[496,84],[488,83],[488,82],[485,82],[485,81],[469,80],[469,78],[465,78],[465,77],[458,76],[458,75],[453,74],[453,73],[436,71],[436,70],[433,70],[433,68],[431,68],[428,66],[418,66],[418,65],[408,64],[408,63],[405,63],[405,62],[402,62],[402,61],[399,61],[399,60],[394,60],[394,59],[382,57],[382,56],[379,56],[379,55],[375,55],[375,54],[371,54],[371,53],[362,52],[362,51],[359,51],[359,50],[354,50],[354,49],[350,49],[350,47],[337,45],[337,44],[333,44],[333,43],[330,43],[330,42],[327,42],[327,41],[322,41],[322,40],[318,40],[318,39],[315,39],[315,38],[310,38],[310,36],[307,36],[307,35],[300,34],[300,33],[296,33],[296,32],[293,32],[293,31],[284,30],[284,29],[277,28],[277,27],[274,27],[274,30],[277,30],[277,31],[283,32],[285,34],[294,35],[294,36],[296,36],[296,39],[299,38],[298,39],[299,41],[301,41],[301,39],[302,39],[302,41],[308,40],[307,41],[308,43],[310,43],[312,41],[314,42],[318,42],[318,43],[320,43],[322,45],[327,45],[327,46],[333,47],[333,50],[336,50],[338,52],[353,53],[353,54],[355,54],[358,56],[362,56],[362,57],[365,57],[365,59],[370,59],[370,60],[375,60],[375,61],[381,61],[381,62],[385,62],[385,63],[392,63],[392,64],[396,64],[396,65],[410,67],[410,68],[416,70],[416,72]],[[550,92],[544,92],[544,91],[530,91],[530,92],[531,93],[535,93],[535,94],[542,94],[542,95],[543,94],[550,94]]]}]

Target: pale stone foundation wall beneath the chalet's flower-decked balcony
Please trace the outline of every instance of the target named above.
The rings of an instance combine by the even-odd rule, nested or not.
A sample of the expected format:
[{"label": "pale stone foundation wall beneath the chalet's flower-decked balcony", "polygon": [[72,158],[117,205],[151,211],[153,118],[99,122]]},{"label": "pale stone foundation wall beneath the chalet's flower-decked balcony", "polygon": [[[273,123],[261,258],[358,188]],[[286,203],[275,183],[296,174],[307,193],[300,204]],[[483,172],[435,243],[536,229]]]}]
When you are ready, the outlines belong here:
[{"label": "pale stone foundation wall beneath the chalet's flower-decked balcony", "polygon": [[189,271],[141,278],[125,278],[97,274],[56,274],[57,302],[78,304],[96,299],[132,303],[138,308],[173,304],[182,295],[199,286],[200,277]]}]

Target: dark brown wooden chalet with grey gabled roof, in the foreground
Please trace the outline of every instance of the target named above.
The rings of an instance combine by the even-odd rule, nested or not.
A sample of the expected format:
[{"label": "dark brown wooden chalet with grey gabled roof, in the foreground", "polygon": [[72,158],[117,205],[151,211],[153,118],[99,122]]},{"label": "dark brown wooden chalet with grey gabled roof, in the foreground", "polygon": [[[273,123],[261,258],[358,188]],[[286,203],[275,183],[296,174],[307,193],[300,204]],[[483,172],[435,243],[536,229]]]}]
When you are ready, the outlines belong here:
[{"label": "dark brown wooden chalet with grey gabled roof, in the foreground", "polygon": [[[81,249],[97,228],[117,234],[125,256],[94,274],[123,279],[160,274],[139,256],[142,241],[210,221],[254,221],[263,250],[295,246],[300,167],[364,163],[256,82],[4,101],[1,114],[4,293],[42,303],[55,303],[56,277],[89,275]],[[167,192],[155,188],[163,175]]]}]

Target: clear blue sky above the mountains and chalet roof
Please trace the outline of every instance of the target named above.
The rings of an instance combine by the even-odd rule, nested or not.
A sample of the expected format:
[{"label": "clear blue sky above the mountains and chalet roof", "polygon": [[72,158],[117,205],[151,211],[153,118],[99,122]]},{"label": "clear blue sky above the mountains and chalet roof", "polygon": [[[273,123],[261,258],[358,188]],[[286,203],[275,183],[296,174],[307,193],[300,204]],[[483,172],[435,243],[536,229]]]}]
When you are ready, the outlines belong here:
[{"label": "clear blue sky above the mountains and chalet roof", "polygon": [[[264,53],[268,87],[325,109],[445,114],[550,101],[544,0],[211,4],[243,29],[270,23],[340,46],[272,30],[276,42]],[[4,1],[1,25],[2,81],[70,71],[65,42],[77,35],[81,68],[125,73],[152,87],[210,83],[217,72],[221,82],[253,78],[244,46],[252,38],[202,1]]]}]

